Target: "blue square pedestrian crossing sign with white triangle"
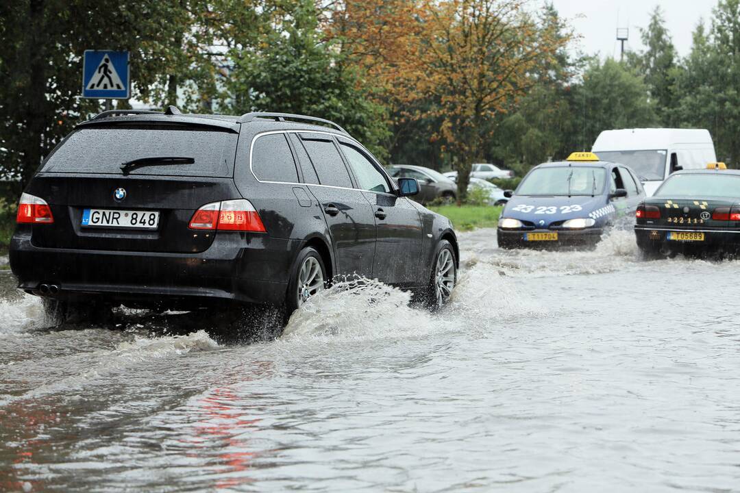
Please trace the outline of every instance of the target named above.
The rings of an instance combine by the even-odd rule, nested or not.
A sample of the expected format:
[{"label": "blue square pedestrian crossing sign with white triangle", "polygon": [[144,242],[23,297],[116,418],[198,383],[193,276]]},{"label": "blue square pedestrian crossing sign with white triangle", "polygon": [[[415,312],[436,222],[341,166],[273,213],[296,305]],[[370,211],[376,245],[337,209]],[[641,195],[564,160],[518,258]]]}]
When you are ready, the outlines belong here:
[{"label": "blue square pedestrian crossing sign with white triangle", "polygon": [[85,50],[83,98],[128,99],[129,89],[129,52]]}]

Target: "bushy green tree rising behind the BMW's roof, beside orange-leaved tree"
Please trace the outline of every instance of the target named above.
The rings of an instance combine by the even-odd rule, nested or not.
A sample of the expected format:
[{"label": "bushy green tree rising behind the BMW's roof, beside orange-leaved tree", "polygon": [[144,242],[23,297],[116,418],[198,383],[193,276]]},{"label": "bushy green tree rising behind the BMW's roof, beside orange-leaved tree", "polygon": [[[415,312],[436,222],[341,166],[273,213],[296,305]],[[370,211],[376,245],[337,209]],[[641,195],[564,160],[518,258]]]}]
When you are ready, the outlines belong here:
[{"label": "bushy green tree rising behind the BMW's roof, beside orange-leaved tree", "polygon": [[233,62],[224,82],[234,95],[229,109],[327,118],[385,158],[385,110],[371,101],[372,86],[362,74],[344,64],[332,42],[321,38],[313,1],[294,2],[275,14],[279,15],[273,19],[275,29],[258,49],[235,47],[227,54]]}]

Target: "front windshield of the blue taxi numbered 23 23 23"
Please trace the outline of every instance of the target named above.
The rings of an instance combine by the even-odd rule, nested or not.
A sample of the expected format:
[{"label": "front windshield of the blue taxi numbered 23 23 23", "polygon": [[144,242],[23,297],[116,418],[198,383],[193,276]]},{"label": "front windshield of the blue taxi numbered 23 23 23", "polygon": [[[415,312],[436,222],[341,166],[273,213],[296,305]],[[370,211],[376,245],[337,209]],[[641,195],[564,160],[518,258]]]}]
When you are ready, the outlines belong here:
[{"label": "front windshield of the blue taxi numbered 23 23 23", "polygon": [[605,177],[605,169],[591,166],[539,168],[525,177],[517,195],[599,195]]}]

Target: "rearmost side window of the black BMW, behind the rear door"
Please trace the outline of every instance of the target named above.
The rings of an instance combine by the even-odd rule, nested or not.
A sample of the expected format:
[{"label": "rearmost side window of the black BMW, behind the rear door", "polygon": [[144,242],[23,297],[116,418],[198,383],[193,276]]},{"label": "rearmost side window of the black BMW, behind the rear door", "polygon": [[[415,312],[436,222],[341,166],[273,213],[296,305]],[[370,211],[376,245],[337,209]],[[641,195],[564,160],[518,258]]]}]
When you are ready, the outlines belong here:
[{"label": "rearmost side window of the black BMW, behind the rear door", "polygon": [[257,137],[252,146],[252,172],[260,181],[298,182],[293,153],[284,134]]}]

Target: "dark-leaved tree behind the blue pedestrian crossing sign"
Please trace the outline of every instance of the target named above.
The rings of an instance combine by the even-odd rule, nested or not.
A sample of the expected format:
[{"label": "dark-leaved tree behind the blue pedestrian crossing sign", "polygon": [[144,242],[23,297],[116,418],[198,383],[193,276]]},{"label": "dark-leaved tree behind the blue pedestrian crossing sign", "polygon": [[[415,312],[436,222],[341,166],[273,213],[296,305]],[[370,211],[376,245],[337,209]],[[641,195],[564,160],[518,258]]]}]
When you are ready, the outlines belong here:
[{"label": "dark-leaved tree behind the blue pedestrian crossing sign", "polygon": [[[22,187],[73,125],[100,109],[80,98],[84,50],[129,50],[135,95],[169,72],[181,4],[143,0],[7,0],[0,4],[0,173]],[[19,190],[16,190],[18,192]]]}]

